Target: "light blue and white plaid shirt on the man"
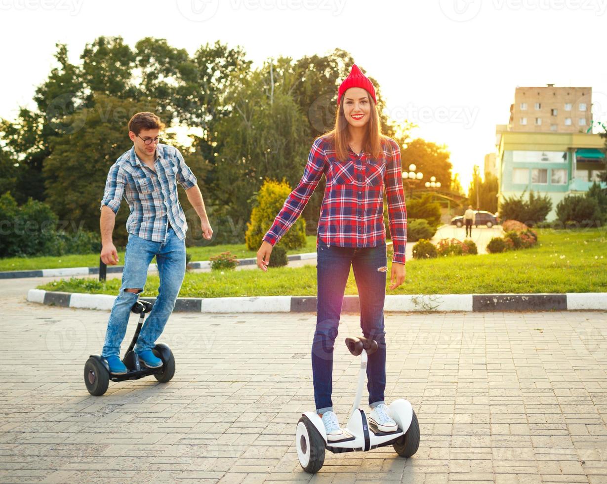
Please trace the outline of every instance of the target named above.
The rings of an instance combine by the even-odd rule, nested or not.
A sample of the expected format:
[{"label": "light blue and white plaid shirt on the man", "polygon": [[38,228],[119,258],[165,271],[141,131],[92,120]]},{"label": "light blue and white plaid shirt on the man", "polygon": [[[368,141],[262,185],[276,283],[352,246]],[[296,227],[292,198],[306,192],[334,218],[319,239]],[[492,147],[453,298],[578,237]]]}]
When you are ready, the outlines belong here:
[{"label": "light blue and white plaid shirt on the man", "polygon": [[129,234],[164,242],[171,223],[177,237],[183,240],[188,223],[177,197],[177,182],[187,190],[196,185],[196,177],[173,146],[156,147],[154,168],[155,172],[141,163],[135,147],[129,149],[110,167],[101,207],[107,205],[118,213],[124,196],[131,210],[126,221]]}]

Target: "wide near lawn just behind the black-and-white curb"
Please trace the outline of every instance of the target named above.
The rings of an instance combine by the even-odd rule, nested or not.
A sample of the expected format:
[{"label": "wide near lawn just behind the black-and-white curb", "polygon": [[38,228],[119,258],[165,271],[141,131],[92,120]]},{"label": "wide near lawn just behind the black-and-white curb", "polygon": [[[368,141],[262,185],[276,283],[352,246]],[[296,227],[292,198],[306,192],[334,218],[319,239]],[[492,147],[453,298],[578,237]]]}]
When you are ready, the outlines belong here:
[{"label": "wide near lawn just behind the black-and-white curb", "polygon": [[[407,262],[407,280],[387,294],[565,293],[607,291],[607,234],[592,230],[538,230],[536,247],[482,256],[451,256]],[[39,288],[115,295],[120,279],[55,281]],[[158,277],[150,276],[145,295],[157,295]],[[346,288],[355,295],[353,274]],[[316,295],[316,267],[270,268],[186,274],[180,296]]]}]

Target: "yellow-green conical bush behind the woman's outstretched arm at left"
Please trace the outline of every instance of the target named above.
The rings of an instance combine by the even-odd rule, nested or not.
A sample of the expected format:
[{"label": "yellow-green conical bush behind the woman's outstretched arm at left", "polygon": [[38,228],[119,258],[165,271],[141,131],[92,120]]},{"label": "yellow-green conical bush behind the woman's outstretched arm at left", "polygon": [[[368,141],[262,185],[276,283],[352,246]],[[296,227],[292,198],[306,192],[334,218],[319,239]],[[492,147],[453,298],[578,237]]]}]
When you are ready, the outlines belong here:
[{"label": "yellow-green conical bush behind the woman's outstretched arm at left", "polygon": [[[263,236],[272,226],[276,215],[291,193],[287,182],[265,180],[256,195],[256,206],[251,212],[251,220],[247,224],[245,234],[248,250],[257,250]],[[305,220],[299,217],[290,230],[280,239],[282,247],[287,250],[305,246]]]}]

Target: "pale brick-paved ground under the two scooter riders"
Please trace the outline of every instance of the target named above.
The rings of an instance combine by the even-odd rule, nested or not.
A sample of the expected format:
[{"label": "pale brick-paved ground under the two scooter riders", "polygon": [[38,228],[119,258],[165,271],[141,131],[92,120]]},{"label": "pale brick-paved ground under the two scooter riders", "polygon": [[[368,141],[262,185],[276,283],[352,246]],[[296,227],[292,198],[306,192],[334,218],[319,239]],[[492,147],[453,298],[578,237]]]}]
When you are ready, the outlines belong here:
[{"label": "pale brick-paved ground under the two scooter riders", "polygon": [[[108,313],[24,302],[37,283],[0,283],[1,482],[607,482],[605,312],[388,314],[387,400],[412,401],[419,451],[327,453],[312,477],[293,441],[314,315],[174,315],[174,380],[90,397]],[[345,315],[336,346],[343,423],[357,326]]]}]

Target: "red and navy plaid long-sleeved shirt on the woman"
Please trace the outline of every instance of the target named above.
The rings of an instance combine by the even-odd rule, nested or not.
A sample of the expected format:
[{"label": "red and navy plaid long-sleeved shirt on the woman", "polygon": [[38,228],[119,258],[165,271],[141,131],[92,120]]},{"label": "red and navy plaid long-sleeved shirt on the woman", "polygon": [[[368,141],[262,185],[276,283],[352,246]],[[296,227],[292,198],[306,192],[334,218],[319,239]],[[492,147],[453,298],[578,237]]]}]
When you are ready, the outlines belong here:
[{"label": "red and navy plaid long-sleeved shirt on the woman", "polygon": [[376,247],[385,241],[384,188],[388,200],[393,262],[404,264],[407,209],[402,191],[401,150],[396,141],[383,143],[373,158],[348,149],[348,160],[337,158],[327,138],[314,141],[304,176],[288,196],[263,240],[276,244],[296,222],[322,175],[327,178],[318,220],[318,239],[337,247]]}]

